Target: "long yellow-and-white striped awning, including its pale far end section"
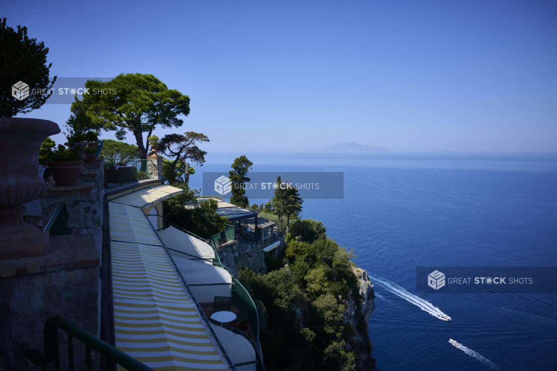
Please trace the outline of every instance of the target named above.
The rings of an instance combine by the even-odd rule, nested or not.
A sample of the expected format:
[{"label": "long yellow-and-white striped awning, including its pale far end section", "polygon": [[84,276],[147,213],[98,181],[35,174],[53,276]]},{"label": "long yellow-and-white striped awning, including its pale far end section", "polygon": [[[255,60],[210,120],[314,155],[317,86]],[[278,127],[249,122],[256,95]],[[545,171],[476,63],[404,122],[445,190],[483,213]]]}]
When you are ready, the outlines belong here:
[{"label": "long yellow-and-white striped awning, including its pale far end section", "polygon": [[[141,207],[178,188],[142,189],[109,202],[116,348],[157,371],[228,370]],[[130,205],[124,204],[130,202]]]}]

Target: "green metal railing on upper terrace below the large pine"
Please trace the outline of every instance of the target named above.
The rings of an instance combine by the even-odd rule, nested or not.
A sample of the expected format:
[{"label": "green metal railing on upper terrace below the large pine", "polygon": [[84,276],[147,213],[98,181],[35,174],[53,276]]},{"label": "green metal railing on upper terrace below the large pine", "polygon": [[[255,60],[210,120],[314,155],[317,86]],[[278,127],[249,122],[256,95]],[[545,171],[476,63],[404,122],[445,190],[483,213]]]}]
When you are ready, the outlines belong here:
[{"label": "green metal railing on upper terrace below the large pine", "polygon": [[122,183],[136,180],[152,179],[154,164],[151,160],[105,159],[104,178],[105,187],[120,187]]}]

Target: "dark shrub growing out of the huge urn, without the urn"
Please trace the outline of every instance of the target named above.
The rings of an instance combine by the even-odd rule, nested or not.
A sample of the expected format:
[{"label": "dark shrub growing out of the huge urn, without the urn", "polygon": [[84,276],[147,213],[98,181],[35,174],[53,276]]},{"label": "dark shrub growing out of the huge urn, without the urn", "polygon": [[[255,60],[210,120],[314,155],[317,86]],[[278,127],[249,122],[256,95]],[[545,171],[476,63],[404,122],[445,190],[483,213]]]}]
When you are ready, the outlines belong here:
[{"label": "dark shrub growing out of the huge urn, without the urn", "polygon": [[[18,113],[31,112],[45,104],[49,94],[31,94],[33,89],[51,89],[56,76],[50,81],[46,64],[48,48],[45,43],[37,43],[36,38],[27,36],[27,27],[17,26],[17,31],[6,25],[6,18],[0,22],[0,117],[12,117]],[[12,85],[22,81],[28,85],[30,95],[22,100],[12,96]],[[21,86],[21,89],[24,87]]]}]

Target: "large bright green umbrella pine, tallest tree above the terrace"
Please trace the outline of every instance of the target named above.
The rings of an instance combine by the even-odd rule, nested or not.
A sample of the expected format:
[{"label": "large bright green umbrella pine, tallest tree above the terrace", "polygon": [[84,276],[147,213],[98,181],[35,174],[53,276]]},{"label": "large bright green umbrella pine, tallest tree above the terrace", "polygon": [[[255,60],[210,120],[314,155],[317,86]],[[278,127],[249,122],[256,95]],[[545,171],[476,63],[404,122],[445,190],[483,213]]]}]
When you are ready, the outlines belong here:
[{"label": "large bright green umbrella pine, tallest tree above the terrace", "polygon": [[85,94],[81,101],[72,104],[72,109],[82,106],[93,125],[115,130],[119,140],[124,139],[126,131],[132,133],[141,159],[146,159],[149,148],[143,133],[149,138],[157,125],[182,126],[183,120],[178,116],[189,114],[189,97],[168,89],[153,75],[121,74],[105,82],[89,80],[85,87],[109,94]]}]

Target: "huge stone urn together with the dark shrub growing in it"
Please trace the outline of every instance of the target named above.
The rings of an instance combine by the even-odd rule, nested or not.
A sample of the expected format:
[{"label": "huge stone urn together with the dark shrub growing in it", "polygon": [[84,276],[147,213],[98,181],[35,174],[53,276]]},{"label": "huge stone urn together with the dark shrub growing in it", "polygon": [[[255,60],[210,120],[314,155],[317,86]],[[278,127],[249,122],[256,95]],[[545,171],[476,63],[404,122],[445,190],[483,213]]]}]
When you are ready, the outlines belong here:
[{"label": "huge stone urn together with the dark shrub growing in it", "polygon": [[[48,233],[23,221],[22,204],[45,192],[46,184],[37,172],[39,147],[47,136],[60,133],[60,128],[48,120],[13,117],[40,108],[50,97],[56,76],[50,80],[48,48],[28,37],[26,27],[17,26],[17,31],[8,27],[6,18],[0,19],[0,45],[6,51],[0,53],[0,158],[6,159],[0,177],[2,260],[47,253]],[[46,94],[34,94],[37,91]]]}]

